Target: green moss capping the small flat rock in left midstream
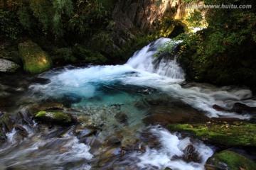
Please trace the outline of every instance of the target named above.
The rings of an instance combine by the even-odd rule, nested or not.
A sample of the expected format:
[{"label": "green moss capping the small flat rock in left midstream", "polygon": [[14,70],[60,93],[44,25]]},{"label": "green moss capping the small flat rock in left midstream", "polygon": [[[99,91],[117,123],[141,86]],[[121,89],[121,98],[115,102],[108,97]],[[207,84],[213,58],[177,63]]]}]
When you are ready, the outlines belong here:
[{"label": "green moss capping the small flat rock in left midstream", "polygon": [[50,123],[72,123],[72,118],[67,113],[40,111],[35,116],[38,120]]}]

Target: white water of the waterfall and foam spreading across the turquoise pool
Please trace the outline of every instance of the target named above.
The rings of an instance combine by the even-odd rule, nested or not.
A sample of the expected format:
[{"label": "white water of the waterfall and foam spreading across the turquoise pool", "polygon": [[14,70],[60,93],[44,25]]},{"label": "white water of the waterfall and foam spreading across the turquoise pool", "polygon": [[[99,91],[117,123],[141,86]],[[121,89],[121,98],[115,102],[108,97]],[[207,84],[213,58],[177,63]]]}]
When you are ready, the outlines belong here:
[{"label": "white water of the waterfall and foam spreading across the turquoise pool", "polygon": [[[75,94],[83,98],[82,104],[88,103],[87,98],[101,97],[102,104],[124,103],[133,100],[134,97],[126,94],[104,96],[100,87],[112,84],[129,84],[137,86],[148,86],[163,91],[170,96],[181,99],[198,110],[212,117],[232,117],[248,119],[250,115],[239,115],[237,113],[225,113],[215,111],[214,104],[223,108],[231,108],[233,103],[245,103],[248,106],[256,106],[255,100],[248,99],[252,96],[249,89],[232,88],[230,86],[216,87],[209,84],[191,84],[184,88],[179,83],[184,80],[184,73],[174,59],[172,62],[161,60],[155,67],[152,56],[158,47],[169,41],[161,38],[147,45],[124,65],[91,66],[79,69],[65,69],[60,72],[48,72],[41,77],[50,79],[50,84],[30,86],[33,92],[41,92],[41,98],[49,96],[61,97],[67,93]],[[124,95],[122,97],[122,95]],[[36,96],[37,98],[38,95]],[[93,103],[95,104],[95,103]]]}]

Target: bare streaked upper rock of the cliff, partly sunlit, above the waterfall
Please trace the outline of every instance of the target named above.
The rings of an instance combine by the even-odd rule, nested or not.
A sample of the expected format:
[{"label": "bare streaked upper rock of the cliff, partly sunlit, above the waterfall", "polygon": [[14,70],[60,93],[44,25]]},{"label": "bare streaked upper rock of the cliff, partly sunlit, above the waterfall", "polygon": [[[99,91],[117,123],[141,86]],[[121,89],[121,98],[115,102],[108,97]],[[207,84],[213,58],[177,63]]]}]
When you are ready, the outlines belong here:
[{"label": "bare streaked upper rock of the cliff, partly sunlit, above the waterfall", "polygon": [[137,35],[154,33],[166,13],[169,19],[179,19],[177,16],[181,16],[181,6],[181,0],[117,2],[112,13],[112,18],[117,23],[113,29],[117,45],[123,45]]}]

